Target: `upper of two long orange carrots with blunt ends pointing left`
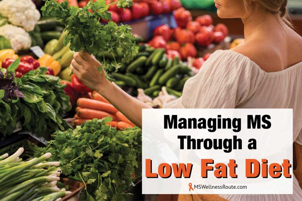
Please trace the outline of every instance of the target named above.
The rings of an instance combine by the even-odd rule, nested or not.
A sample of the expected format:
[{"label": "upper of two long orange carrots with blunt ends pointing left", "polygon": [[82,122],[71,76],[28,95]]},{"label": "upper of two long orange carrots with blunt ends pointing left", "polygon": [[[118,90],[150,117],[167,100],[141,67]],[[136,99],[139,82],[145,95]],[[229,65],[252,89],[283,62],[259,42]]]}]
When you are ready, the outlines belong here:
[{"label": "upper of two long orange carrots with blunt ends pointing left", "polygon": [[98,100],[79,98],[77,101],[77,104],[81,108],[100,110],[100,111],[105,111],[105,112],[109,112],[109,113],[117,112],[117,109],[115,107],[113,107],[113,105],[105,103],[105,102],[101,102]]}]

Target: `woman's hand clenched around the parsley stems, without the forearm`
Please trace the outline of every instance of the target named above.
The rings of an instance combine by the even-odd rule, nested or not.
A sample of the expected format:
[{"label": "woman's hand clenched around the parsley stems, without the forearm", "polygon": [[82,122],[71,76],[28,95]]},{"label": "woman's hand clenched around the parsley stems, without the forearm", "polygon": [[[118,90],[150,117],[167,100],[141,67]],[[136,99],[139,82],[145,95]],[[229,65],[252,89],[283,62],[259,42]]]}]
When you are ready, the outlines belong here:
[{"label": "woman's hand clenched around the parsley stems, without the forearm", "polygon": [[98,71],[101,66],[102,64],[87,52],[76,52],[70,69],[87,87],[100,93],[101,88],[110,83],[105,78],[104,68],[102,73]]}]

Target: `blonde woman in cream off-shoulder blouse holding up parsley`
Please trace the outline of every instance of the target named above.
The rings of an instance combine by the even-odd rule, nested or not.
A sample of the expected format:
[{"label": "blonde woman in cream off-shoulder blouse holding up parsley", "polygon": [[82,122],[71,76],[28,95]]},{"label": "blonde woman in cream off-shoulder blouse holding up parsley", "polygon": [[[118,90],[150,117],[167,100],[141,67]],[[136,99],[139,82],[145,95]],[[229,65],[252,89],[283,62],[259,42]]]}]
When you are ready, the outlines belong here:
[{"label": "blonde woman in cream off-shoulder blouse holding up parsley", "polygon": [[[286,19],[287,0],[215,0],[215,5],[219,17],[242,19],[245,42],[214,52],[187,81],[183,96],[165,108],[293,108],[293,137],[302,144],[302,38]],[[104,70],[102,74],[97,71],[99,66],[84,52],[75,53],[71,69],[141,127],[141,111],[150,107],[108,82]],[[292,195],[220,196],[228,200],[302,200],[296,177],[293,189]]]}]

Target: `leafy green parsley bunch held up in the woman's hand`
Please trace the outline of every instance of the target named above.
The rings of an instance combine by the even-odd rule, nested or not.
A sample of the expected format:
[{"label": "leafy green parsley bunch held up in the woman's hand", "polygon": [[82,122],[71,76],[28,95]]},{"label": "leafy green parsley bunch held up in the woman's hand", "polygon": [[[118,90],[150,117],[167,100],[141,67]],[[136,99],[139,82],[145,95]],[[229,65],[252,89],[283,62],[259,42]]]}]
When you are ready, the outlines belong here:
[{"label": "leafy green parsley bunch held up in the woman's hand", "polygon": [[[68,32],[64,38],[64,45],[70,43],[70,49],[75,52],[86,51],[95,55],[101,51],[112,52],[115,48],[120,48],[124,58],[123,62],[129,63],[136,56],[138,47],[131,33],[132,28],[128,25],[117,24],[109,21],[108,24],[102,24],[101,19],[111,20],[111,13],[108,12],[109,5],[105,0],[90,2],[83,8],[69,6],[65,0],[63,3],[57,3],[53,0],[45,0],[42,7],[43,16],[56,17],[65,26]],[[117,4],[118,8],[130,7],[132,0],[118,0],[111,4]],[[117,69],[120,64],[106,64],[103,66],[114,66]],[[101,70],[101,68],[99,68]],[[108,77],[107,77],[108,78]]]}]

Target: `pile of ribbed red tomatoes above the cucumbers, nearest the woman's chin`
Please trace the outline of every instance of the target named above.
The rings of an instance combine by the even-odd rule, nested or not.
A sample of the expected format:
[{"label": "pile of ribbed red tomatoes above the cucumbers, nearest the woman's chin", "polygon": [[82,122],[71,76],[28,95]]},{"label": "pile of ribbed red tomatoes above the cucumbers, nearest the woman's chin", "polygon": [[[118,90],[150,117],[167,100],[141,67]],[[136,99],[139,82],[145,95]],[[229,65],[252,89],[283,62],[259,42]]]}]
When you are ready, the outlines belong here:
[{"label": "pile of ribbed red tomatoes above the cucumbers, nearest the woman's chin", "polygon": [[211,43],[223,42],[229,34],[224,24],[213,25],[210,15],[199,16],[193,21],[191,12],[185,8],[174,11],[174,17],[178,25],[171,29],[169,25],[160,25],[154,30],[154,37],[149,44],[155,48],[165,48],[169,58],[178,56],[182,60],[188,57],[196,57],[197,46],[207,47]]}]

